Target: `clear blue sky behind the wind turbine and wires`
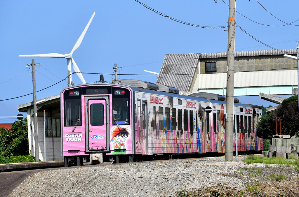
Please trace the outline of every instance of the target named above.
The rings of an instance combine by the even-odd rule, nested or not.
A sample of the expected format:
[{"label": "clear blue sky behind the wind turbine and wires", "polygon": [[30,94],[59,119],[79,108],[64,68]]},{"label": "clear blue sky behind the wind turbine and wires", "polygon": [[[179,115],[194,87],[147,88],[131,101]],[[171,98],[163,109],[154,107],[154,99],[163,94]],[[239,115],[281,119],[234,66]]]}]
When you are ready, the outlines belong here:
[{"label": "clear blue sky behind the wind turbine and wires", "polygon": [[[223,0],[227,4],[229,0]],[[149,1],[141,2],[175,19],[202,26],[225,26],[228,6],[222,0]],[[268,13],[260,4],[263,5]],[[242,0],[236,10],[261,24],[281,26],[299,19],[295,0]],[[27,64],[36,63],[37,91],[67,76],[64,58],[30,58],[19,55],[70,53],[86,24],[95,13],[89,29],[73,58],[81,72],[107,73],[112,77],[114,64],[118,74],[159,72],[165,54],[226,52],[228,31],[206,29],[172,21],[143,7],[134,0],[118,1],[1,1],[0,2],[0,90],[2,99],[32,93],[32,75]],[[236,22],[245,31],[276,49],[292,49],[299,40],[298,26],[265,26],[236,13]],[[299,21],[293,23],[299,25]],[[268,50],[236,28],[235,50]],[[73,70],[74,71],[74,70]],[[81,84],[73,74],[73,82]],[[100,79],[97,74],[83,74],[86,82]],[[157,76],[118,76],[155,82]],[[67,80],[37,93],[37,99],[60,94]],[[286,96],[288,97],[288,96]],[[242,103],[275,105],[257,97],[238,97]],[[17,105],[33,101],[33,96],[0,101],[0,116],[16,116]],[[24,113],[24,115],[26,115]],[[16,118],[0,118],[0,123]]]}]

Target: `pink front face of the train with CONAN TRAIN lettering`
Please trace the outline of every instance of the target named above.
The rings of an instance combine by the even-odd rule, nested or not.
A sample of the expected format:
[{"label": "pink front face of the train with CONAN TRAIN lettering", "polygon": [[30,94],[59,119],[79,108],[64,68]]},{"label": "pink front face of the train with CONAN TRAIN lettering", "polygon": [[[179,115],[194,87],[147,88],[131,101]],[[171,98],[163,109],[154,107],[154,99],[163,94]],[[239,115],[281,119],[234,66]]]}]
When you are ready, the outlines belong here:
[{"label": "pink front face of the train with CONAN TRAIN lettering", "polygon": [[127,86],[99,83],[64,88],[61,92],[64,165],[132,159],[132,91]]}]

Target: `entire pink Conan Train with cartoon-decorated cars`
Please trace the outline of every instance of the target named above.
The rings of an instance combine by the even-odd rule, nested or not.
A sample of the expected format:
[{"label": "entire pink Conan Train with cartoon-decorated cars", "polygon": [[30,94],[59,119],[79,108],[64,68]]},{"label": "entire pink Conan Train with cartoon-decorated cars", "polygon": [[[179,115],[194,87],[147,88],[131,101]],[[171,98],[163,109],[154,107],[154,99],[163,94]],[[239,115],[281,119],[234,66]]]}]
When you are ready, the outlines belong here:
[{"label": "entire pink Conan Train with cartoon-decorated cars", "polygon": [[[234,109],[234,151],[236,137],[238,151],[263,150],[263,139],[256,136],[262,109],[239,103]],[[61,112],[65,166],[225,152],[220,95],[185,96],[173,87],[124,79],[64,88]]]}]

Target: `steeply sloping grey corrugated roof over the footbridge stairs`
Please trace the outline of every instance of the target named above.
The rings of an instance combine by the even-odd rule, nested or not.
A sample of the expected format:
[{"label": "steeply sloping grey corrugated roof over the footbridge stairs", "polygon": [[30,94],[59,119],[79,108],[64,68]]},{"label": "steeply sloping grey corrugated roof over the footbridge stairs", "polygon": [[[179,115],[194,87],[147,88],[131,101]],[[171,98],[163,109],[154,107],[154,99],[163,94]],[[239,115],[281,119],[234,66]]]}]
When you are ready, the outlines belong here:
[{"label": "steeply sloping grey corrugated roof over the footbridge stairs", "polygon": [[189,91],[199,57],[200,53],[166,54],[157,83]]}]

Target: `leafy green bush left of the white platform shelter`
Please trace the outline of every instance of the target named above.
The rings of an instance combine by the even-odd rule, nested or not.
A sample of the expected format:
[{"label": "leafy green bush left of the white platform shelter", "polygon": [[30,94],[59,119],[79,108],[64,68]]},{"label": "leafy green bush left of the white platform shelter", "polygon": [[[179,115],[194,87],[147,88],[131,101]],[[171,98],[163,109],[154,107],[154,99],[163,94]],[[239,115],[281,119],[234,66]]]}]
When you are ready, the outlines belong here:
[{"label": "leafy green bush left of the white platform shelter", "polygon": [[15,121],[11,129],[0,128],[0,156],[28,155],[27,118]]}]

